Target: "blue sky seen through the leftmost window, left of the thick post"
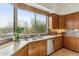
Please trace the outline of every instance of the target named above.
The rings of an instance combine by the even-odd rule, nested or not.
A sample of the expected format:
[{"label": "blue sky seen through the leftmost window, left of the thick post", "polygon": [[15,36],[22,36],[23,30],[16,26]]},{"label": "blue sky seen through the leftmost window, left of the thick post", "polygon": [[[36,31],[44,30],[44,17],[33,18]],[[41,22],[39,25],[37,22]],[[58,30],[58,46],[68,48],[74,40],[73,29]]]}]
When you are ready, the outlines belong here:
[{"label": "blue sky seen through the leftmost window, left of the thick post", "polygon": [[6,27],[13,24],[13,7],[11,4],[0,3],[0,27]]}]

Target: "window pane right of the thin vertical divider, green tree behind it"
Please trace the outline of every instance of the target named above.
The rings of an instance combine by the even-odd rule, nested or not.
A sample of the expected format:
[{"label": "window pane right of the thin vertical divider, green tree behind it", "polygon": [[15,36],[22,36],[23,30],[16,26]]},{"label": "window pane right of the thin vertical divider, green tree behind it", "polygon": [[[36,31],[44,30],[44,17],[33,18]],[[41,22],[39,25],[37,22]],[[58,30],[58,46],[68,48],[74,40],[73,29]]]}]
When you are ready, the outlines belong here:
[{"label": "window pane right of the thin vertical divider, green tree behind it", "polygon": [[37,33],[45,33],[47,30],[47,16],[36,14],[36,31]]}]

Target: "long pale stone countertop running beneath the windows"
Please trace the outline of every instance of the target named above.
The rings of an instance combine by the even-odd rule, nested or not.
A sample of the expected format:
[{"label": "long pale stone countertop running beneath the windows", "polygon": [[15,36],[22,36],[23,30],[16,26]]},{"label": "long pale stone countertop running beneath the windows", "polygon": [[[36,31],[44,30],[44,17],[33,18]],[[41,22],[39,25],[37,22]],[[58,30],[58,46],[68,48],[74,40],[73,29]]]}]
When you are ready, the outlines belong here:
[{"label": "long pale stone countertop running beneath the windows", "polygon": [[26,46],[28,43],[40,41],[40,40],[51,39],[51,38],[55,38],[55,37],[59,37],[59,36],[61,36],[61,35],[46,35],[46,36],[42,36],[41,38],[37,38],[37,40],[32,40],[32,38],[28,38],[28,41],[26,41],[24,39],[20,39],[19,42],[13,42],[13,41],[9,42],[7,44],[0,46],[0,56],[11,56],[16,51],[18,51],[19,49]]}]

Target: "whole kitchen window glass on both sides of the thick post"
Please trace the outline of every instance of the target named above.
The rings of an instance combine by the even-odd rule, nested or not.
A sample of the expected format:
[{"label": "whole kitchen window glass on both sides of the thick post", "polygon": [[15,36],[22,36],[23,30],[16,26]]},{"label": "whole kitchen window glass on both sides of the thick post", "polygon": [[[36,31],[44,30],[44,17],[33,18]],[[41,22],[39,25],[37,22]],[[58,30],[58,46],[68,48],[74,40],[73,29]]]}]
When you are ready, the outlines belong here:
[{"label": "whole kitchen window glass on both sides of the thick post", "polygon": [[13,37],[16,29],[15,24],[24,28],[22,35],[46,34],[47,20],[48,16],[46,15],[19,9],[18,7],[14,8],[13,4],[0,3],[0,40]]}]

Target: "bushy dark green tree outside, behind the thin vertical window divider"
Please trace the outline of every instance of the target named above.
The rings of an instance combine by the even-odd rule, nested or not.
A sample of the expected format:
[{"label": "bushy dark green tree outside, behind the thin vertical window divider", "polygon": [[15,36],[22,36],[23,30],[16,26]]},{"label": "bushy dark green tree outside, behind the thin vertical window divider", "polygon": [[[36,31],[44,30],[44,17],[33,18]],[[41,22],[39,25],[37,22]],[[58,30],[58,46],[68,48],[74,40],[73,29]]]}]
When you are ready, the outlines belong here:
[{"label": "bushy dark green tree outside, behind the thin vertical window divider", "polygon": [[33,19],[31,21],[32,24],[32,32],[34,33],[44,33],[46,31],[46,23],[38,20],[38,19]]}]

